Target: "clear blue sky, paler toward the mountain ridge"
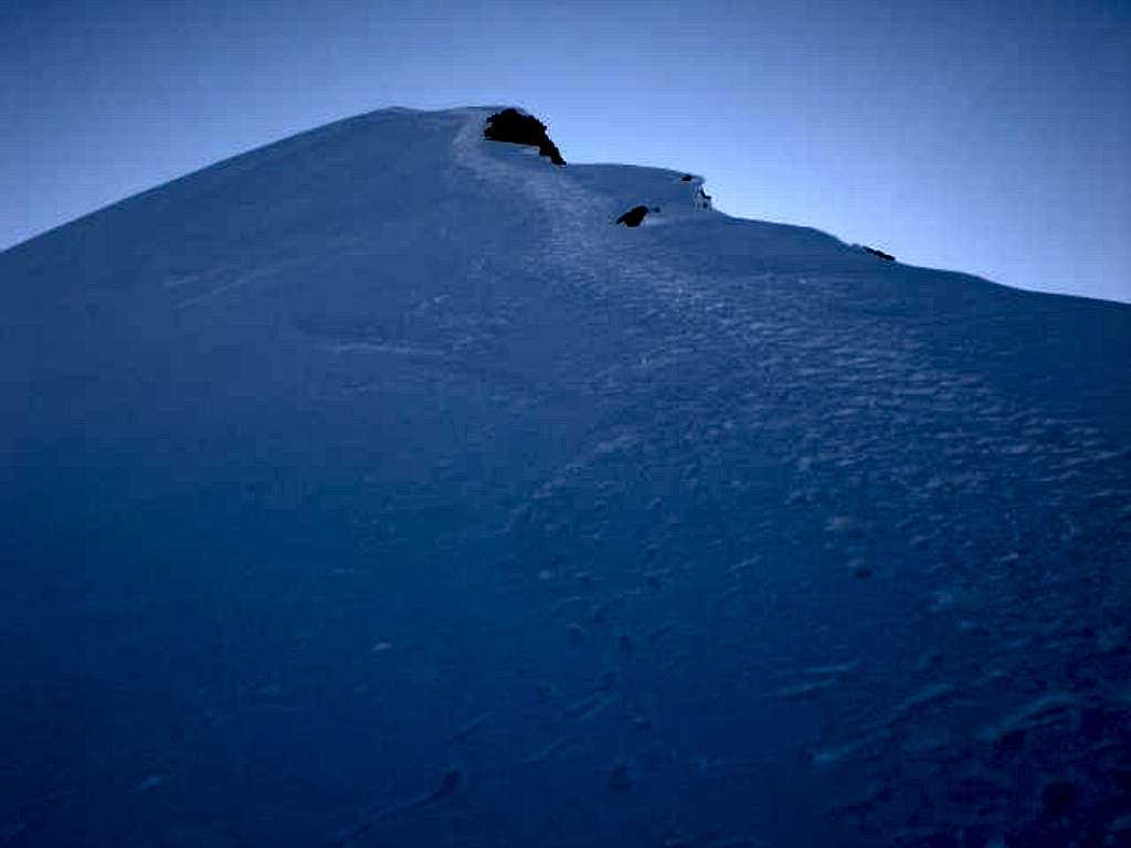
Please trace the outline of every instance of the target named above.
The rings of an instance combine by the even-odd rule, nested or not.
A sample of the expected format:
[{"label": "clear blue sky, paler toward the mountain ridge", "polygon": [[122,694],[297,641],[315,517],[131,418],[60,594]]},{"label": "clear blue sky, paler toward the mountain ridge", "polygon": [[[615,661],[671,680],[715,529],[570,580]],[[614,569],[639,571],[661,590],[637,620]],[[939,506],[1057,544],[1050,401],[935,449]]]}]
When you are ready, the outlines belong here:
[{"label": "clear blue sky, paler toward the mountain ridge", "polygon": [[0,248],[388,105],[513,103],[732,215],[1131,301],[1128,0],[7,0]]}]

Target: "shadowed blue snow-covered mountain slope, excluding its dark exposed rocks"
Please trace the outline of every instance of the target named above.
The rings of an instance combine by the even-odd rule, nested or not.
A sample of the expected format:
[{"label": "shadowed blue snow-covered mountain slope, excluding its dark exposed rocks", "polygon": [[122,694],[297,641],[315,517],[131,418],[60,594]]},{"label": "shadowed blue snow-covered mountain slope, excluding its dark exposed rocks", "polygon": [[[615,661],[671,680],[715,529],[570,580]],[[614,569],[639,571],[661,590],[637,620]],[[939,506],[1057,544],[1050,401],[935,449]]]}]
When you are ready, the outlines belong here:
[{"label": "shadowed blue snow-covered mountain slope, excluding its dark exposed rocks", "polygon": [[1131,310],[494,111],[0,254],[6,843],[1125,839]]}]

